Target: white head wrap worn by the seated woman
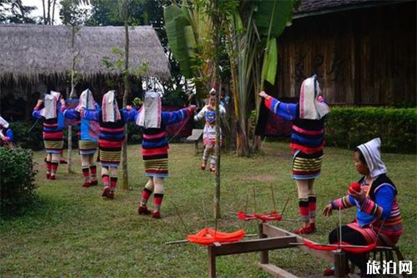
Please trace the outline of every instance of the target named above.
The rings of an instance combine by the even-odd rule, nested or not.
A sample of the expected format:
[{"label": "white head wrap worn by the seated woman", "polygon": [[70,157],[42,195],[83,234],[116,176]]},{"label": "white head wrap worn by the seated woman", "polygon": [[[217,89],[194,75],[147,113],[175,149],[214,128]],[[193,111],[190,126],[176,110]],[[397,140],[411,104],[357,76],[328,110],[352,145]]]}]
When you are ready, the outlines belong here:
[{"label": "white head wrap worn by the seated woman", "polygon": [[366,165],[368,165],[370,177],[377,177],[380,174],[386,173],[385,164],[381,160],[380,138],[374,138],[365,144],[359,145],[358,148],[365,158]]}]

